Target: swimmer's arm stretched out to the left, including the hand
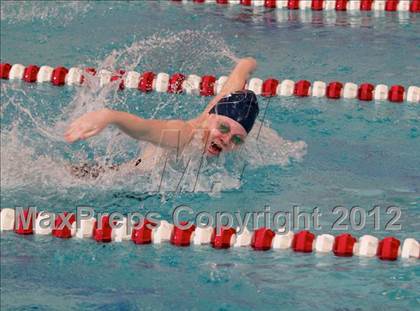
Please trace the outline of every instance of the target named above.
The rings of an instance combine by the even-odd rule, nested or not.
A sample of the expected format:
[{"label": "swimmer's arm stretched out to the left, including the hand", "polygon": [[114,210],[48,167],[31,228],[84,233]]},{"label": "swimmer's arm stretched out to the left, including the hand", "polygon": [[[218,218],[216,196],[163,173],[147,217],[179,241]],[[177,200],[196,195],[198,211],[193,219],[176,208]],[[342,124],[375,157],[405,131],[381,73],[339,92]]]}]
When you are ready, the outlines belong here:
[{"label": "swimmer's arm stretched out to the left, including the hand", "polygon": [[182,147],[191,138],[192,127],[182,120],[143,119],[136,115],[102,109],[75,120],[65,133],[68,142],[87,139],[114,124],[127,135],[162,147]]}]

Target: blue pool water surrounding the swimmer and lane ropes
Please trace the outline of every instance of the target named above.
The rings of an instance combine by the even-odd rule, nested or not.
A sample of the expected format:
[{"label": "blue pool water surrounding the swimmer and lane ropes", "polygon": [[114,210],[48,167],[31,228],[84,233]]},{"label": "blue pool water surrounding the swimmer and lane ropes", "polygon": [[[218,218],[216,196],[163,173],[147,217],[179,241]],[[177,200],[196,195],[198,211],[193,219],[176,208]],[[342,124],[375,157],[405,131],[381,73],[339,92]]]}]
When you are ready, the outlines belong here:
[{"label": "blue pool water surrounding the swimmer and lane ropes", "polygon": [[[289,12],[169,2],[2,2],[1,61],[94,66],[138,72],[228,74],[234,60],[253,56],[254,76],[311,81],[419,85],[417,15]],[[156,192],[156,176],[110,173],[80,181],[66,165],[121,163],[138,143],[104,131],[68,145],[69,120],[103,106],[144,117],[190,118],[208,99],[142,94],[133,90],[55,88],[1,82],[1,207],[71,211],[155,211],[170,219],[180,204],[194,212],[322,212],[320,230],[332,231],[335,206],[381,207],[359,237],[420,239],[419,106],[295,97],[262,100],[261,140],[247,146],[242,176],[228,155],[206,163],[200,185],[188,177]],[[262,116],[261,116],[262,117]],[[274,131],[274,132],[273,132]],[[277,136],[278,133],[281,137]],[[171,188],[172,187],[172,188]],[[389,231],[401,209],[401,230]],[[302,229],[302,228],[300,228]],[[2,309],[99,310],[415,310],[420,308],[417,260],[383,262],[359,257],[216,251],[169,244],[136,246],[91,240],[1,234]]]}]

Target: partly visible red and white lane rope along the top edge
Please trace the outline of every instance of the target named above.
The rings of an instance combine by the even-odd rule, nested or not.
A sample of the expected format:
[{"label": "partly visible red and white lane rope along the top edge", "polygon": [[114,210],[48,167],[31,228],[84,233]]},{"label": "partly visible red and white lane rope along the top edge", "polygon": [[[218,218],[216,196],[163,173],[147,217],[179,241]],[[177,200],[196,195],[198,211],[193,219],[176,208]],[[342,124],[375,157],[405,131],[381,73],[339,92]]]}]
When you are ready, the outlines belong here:
[{"label": "partly visible red and white lane rope along the top edge", "polygon": [[267,9],[312,11],[420,12],[420,0],[172,0],[176,3],[242,5]]}]

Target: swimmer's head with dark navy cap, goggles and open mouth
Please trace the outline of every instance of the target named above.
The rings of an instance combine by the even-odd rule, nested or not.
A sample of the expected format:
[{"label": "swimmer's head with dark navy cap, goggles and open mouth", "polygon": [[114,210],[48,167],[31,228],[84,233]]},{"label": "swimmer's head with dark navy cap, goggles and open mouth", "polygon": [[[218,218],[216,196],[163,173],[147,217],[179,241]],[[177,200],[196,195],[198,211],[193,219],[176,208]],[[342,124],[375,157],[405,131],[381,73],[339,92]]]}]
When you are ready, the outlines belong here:
[{"label": "swimmer's head with dark navy cap, goggles and open mouth", "polygon": [[254,126],[259,108],[252,91],[239,91],[223,97],[209,111],[206,153],[217,156],[239,148]]}]

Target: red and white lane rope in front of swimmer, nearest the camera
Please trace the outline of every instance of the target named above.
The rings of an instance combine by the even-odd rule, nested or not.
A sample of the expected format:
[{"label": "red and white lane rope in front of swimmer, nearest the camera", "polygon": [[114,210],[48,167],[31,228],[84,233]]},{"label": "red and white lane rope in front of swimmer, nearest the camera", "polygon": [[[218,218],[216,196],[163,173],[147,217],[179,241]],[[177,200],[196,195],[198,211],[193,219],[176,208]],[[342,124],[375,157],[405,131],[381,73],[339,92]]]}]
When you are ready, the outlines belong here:
[{"label": "red and white lane rope in front of swimmer, nearest the camera", "polygon": [[[51,225],[48,228],[41,226],[47,218],[52,219],[51,215],[54,215]],[[231,247],[251,247],[253,250],[291,249],[302,253],[333,253],[338,257],[355,255],[391,261],[398,258],[420,259],[420,244],[413,238],[406,238],[401,245],[400,240],[392,236],[380,240],[372,235],[363,235],[357,239],[350,233],[342,233],[338,236],[331,234],[315,236],[308,230],[280,233],[270,228],[259,228],[252,232],[245,228],[238,233],[238,229],[222,227],[217,232],[213,227],[201,227],[186,222],[178,227],[165,220],[162,220],[159,225],[145,220],[141,226],[131,228],[127,225],[126,217],[119,222],[121,224],[119,228],[113,229],[109,215],[103,215],[100,218],[100,224],[93,217],[81,219],[80,226],[76,228],[76,216],[72,213],[64,212],[55,215],[38,212],[32,214],[29,209],[24,209],[23,217],[17,216],[14,209],[3,208],[0,214],[1,231],[14,230],[19,235],[52,235],[62,239],[73,237],[93,239],[101,243],[132,241],[135,244],[161,244],[169,242],[175,246],[207,244],[216,249]]]}]

